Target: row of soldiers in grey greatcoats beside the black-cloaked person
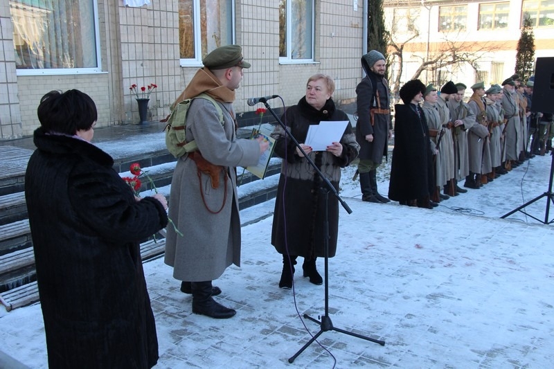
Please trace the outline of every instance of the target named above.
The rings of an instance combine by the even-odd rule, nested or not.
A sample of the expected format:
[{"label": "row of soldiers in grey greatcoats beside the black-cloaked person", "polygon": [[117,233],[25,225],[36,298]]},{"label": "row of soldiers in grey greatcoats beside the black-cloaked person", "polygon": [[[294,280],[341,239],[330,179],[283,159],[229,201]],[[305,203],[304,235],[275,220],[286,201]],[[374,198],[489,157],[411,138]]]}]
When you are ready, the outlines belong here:
[{"label": "row of soldiers in grey greatcoats beside the black-cloaked person", "polygon": [[[467,87],[463,83],[449,81],[440,94],[432,84],[427,86],[422,109],[431,149],[436,152],[436,190],[431,201],[467,192],[465,188],[479,189],[533,156],[527,149],[533,133],[528,125],[533,81],[525,87],[517,75],[489,89],[478,82],[470,87],[470,100],[464,102]],[[535,137],[539,131],[542,127],[535,129]],[[464,181],[465,188],[458,181]]]}]

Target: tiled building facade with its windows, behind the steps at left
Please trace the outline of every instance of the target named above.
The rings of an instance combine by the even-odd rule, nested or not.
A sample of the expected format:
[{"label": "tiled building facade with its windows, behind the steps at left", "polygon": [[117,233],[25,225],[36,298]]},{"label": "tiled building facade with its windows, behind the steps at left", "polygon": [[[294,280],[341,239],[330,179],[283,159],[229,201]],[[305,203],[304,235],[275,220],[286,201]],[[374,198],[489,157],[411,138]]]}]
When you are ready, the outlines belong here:
[{"label": "tiled building facade with its windows, behind the steps at left", "polygon": [[[0,0],[0,139],[30,136],[51,90],[80,89],[97,127],[138,123],[145,87],[150,120],[165,118],[213,48],[240,44],[252,67],[237,90],[293,105],[314,73],[334,78],[333,98],[355,101],[363,76],[364,9],[352,0]],[[275,100],[278,101],[278,100]],[[277,104],[277,102],[276,102]]]}]

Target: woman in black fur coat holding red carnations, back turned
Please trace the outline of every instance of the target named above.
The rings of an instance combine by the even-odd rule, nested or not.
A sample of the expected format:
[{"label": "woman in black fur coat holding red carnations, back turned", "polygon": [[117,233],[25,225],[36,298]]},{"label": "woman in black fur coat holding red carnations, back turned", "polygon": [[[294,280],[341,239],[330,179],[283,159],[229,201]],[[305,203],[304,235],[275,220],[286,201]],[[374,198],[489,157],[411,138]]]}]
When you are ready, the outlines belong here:
[{"label": "woman in black fur coat holding red carnations, back turned", "polygon": [[37,110],[25,175],[50,368],[152,368],[154,314],[139,242],[168,224],[163,195],[139,198],[90,143],[97,111],[78,90]]}]

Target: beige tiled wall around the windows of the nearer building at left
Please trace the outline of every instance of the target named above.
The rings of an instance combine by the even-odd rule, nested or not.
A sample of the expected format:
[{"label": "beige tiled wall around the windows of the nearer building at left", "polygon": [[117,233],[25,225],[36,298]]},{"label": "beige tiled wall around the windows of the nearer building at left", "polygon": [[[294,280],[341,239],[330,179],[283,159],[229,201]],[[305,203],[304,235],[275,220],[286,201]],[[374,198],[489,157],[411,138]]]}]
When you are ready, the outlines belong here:
[{"label": "beige tiled wall around the windows of the nearer building at left", "polygon": [[[155,0],[141,8],[123,6],[123,0],[96,0],[100,35],[101,71],[92,74],[17,75],[10,28],[9,0],[0,0],[4,60],[0,60],[0,139],[29,136],[39,125],[39,99],[52,89],[80,89],[98,107],[98,127],[139,122],[138,105],[129,87],[157,84],[150,95],[149,119],[159,120],[186,87],[199,66],[179,64],[177,0]],[[327,73],[337,89],[339,104],[355,100],[362,77],[362,8],[350,0],[316,1],[314,62],[280,64],[278,1],[236,0],[235,42],[252,67],[245,70],[237,90],[238,119],[253,117],[256,107],[247,98],[278,94],[294,105],[305,93],[307,78]],[[360,1],[361,3],[361,1]],[[274,100],[276,108],[280,102]],[[273,102],[272,102],[273,106]]]}]

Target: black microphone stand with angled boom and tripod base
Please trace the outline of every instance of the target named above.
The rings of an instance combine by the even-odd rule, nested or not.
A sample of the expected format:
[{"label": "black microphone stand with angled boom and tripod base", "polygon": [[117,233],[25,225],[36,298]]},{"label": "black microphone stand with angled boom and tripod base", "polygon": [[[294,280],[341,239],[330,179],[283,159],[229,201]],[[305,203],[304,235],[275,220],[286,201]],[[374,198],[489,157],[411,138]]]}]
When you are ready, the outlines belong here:
[{"label": "black microphone stand with angled boom and tripod base", "polygon": [[312,336],[312,339],[310,339],[310,341],[307,341],[307,343],[305,345],[303,345],[303,347],[300,350],[298,350],[298,352],[296,352],[296,354],[294,354],[292,357],[289,358],[289,363],[292,363],[294,361],[294,359],[296,359],[296,357],[298,357],[298,355],[300,355],[321,334],[323,334],[323,332],[327,332],[327,331],[330,331],[330,330],[334,330],[335,332],[341,332],[341,333],[344,333],[344,334],[348,334],[350,336],[355,336],[355,337],[358,337],[359,339],[365,339],[367,341],[379,343],[379,345],[384,346],[385,345],[384,341],[379,341],[377,339],[371,339],[370,337],[362,336],[361,334],[348,332],[346,330],[341,330],[341,329],[333,326],[331,318],[329,317],[329,273],[328,273],[329,272],[329,237],[330,237],[329,236],[329,220],[328,220],[329,219],[329,215],[328,215],[329,192],[332,192],[333,195],[335,197],[337,197],[337,199],[339,200],[339,202],[341,203],[343,208],[346,210],[346,212],[348,212],[348,214],[351,214],[352,210],[350,209],[348,204],[346,204],[346,202],[344,202],[343,199],[341,199],[341,197],[339,196],[339,193],[332,186],[331,182],[327,178],[325,178],[325,176],[323,176],[323,173],[321,173],[321,170],[319,170],[319,168],[317,168],[314,161],[312,161],[312,159],[310,159],[310,156],[308,156],[305,153],[305,151],[302,150],[302,147],[300,146],[298,141],[296,141],[296,138],[294,138],[294,136],[292,135],[292,132],[290,132],[289,129],[287,129],[287,126],[285,125],[285,123],[283,123],[283,121],[281,121],[279,119],[279,117],[275,114],[275,111],[273,109],[271,109],[271,107],[267,103],[267,100],[260,99],[260,102],[262,102],[265,105],[265,107],[267,108],[269,113],[271,113],[271,115],[274,116],[274,118],[277,120],[279,125],[281,127],[283,127],[283,129],[285,130],[285,134],[287,134],[287,136],[289,136],[289,138],[292,140],[294,145],[296,145],[296,147],[298,147],[298,150],[300,150],[302,152],[302,154],[304,155],[307,162],[310,163],[310,166],[314,169],[314,171],[319,175],[321,180],[325,183],[325,187],[321,187],[321,192],[323,192],[323,194],[325,195],[325,222],[323,224],[323,231],[325,232],[325,237],[323,237],[323,251],[324,251],[324,256],[325,256],[325,314],[323,316],[319,316],[319,318],[321,318],[321,322],[318,321],[315,318],[312,318],[311,316],[309,316],[307,314],[304,314],[304,318],[310,319],[310,321],[313,321],[315,323],[319,323],[319,332],[317,332],[314,336]]}]

